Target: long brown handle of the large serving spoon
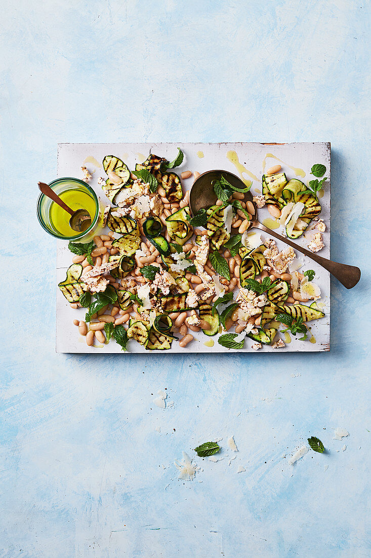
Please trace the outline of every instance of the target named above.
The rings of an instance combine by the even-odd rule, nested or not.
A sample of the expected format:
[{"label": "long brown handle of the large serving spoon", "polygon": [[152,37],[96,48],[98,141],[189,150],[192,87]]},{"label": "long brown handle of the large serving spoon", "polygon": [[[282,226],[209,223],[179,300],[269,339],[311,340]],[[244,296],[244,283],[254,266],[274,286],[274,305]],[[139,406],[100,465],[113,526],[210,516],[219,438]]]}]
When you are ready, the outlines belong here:
[{"label": "long brown handle of the large serving spoon", "polygon": [[302,248],[301,246],[299,246],[299,244],[295,244],[295,242],[292,242],[289,238],[282,237],[281,234],[278,234],[274,230],[265,227],[265,225],[262,225],[258,221],[254,221],[252,223],[252,226],[257,229],[263,230],[272,237],[282,240],[282,242],[285,242],[285,244],[289,244],[289,246],[295,248],[295,250],[297,250],[298,252],[301,252],[308,258],[313,259],[313,261],[319,263],[320,266],[324,267],[325,270],[329,271],[331,275],[336,277],[336,279],[340,281],[340,283],[344,285],[344,287],[353,288],[360,280],[359,267],[348,266],[345,263],[332,262],[330,259],[318,256],[317,254],[310,252],[306,248]]}]

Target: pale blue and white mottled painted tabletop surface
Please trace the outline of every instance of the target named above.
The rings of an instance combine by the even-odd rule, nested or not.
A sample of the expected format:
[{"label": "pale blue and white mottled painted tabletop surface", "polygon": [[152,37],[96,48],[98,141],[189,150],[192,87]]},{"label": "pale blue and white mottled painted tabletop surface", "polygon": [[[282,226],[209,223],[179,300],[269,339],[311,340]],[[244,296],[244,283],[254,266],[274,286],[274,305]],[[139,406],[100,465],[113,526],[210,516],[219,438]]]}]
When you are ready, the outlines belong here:
[{"label": "pale blue and white mottled painted tabletop surface", "polygon": [[[2,3],[1,557],[370,556],[368,7]],[[331,141],[331,255],[363,277],[333,281],[330,353],[55,354],[35,202],[57,142],[179,140]],[[230,467],[176,480],[183,450],[231,434]],[[310,435],[330,453],[290,469]]]}]

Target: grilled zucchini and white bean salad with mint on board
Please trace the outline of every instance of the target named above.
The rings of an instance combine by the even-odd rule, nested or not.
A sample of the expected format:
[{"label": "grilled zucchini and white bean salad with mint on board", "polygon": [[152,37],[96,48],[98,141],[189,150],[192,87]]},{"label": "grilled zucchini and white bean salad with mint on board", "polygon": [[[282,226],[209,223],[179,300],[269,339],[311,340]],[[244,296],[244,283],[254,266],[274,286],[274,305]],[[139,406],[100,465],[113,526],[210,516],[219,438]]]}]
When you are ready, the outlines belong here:
[{"label": "grilled zucchini and white bean salad with mint on board", "polygon": [[[69,243],[75,255],[58,284],[72,308],[86,309],[74,324],[87,345],[116,341],[127,350],[133,339],[147,350],[168,350],[172,343],[184,348],[201,330],[204,344],[213,346],[217,336],[229,349],[242,349],[246,336],[255,350],[285,347],[277,333],[288,331],[309,340],[307,323],[324,316],[315,272],[299,271],[302,262],[291,247],[279,251],[274,239],[249,230],[255,214],[254,204],[244,201],[249,186],[238,189],[221,175],[213,184],[216,204],[192,216],[189,190],[183,194],[182,187],[192,172],[173,171],[183,156],[179,149],[169,162],[150,153],[132,172],[119,157],[104,157],[106,177],[98,182],[110,204],[100,224],[109,230]],[[258,208],[268,206],[288,238],[316,229],[313,251],[324,246],[318,193],[325,172],[314,165],[317,179],[306,186],[277,165],[262,176],[262,195],[253,198]]]}]

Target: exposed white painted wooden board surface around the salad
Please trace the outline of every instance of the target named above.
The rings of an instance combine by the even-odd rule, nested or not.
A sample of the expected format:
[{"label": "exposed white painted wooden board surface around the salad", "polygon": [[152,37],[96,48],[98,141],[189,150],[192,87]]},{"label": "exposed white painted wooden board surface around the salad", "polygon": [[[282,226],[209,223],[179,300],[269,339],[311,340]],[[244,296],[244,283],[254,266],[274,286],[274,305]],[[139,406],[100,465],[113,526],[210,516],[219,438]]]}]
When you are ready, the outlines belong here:
[{"label": "exposed white painted wooden board surface around the salad", "polygon": [[[269,143],[61,143],[58,145],[58,166],[57,176],[75,176],[81,177],[81,166],[86,166],[92,174],[92,180],[89,184],[94,188],[97,195],[102,201],[109,203],[104,195],[101,187],[97,184],[100,176],[106,176],[104,171],[96,167],[92,162],[84,162],[87,158],[92,160],[103,160],[105,155],[116,155],[120,157],[130,170],[135,168],[135,163],[142,162],[147,158],[149,151],[167,157],[170,161],[176,156],[180,147],[184,152],[184,161],[182,166],[178,167],[175,172],[180,175],[184,170],[191,170],[192,172],[205,172],[213,169],[223,169],[242,178],[251,180],[255,176],[257,180],[252,180],[251,192],[253,195],[261,193],[261,175],[263,161],[266,158],[266,169],[278,163],[282,166],[282,171],[286,172],[287,179],[295,178],[295,169],[302,169],[305,172],[305,177],[299,179],[307,183],[309,180],[314,179],[310,175],[310,169],[315,163],[323,163],[326,166],[326,182],[323,198],[320,199],[322,211],[320,217],[324,219],[326,224],[326,232],[323,233],[323,240],[325,247],[321,250],[321,256],[325,258],[330,257],[330,143],[285,143],[283,145],[269,144]],[[227,158],[229,151],[237,153],[240,165],[245,167],[248,174],[242,169],[241,166],[236,166]],[[274,158],[266,157],[267,154],[274,155],[282,160],[277,161]],[[203,156],[202,156],[203,155]],[[183,192],[185,193],[193,183],[193,177],[183,180]],[[261,222],[270,217],[266,208],[258,210],[258,218]],[[277,232],[282,232],[281,228],[276,229]],[[309,239],[313,232],[304,233],[297,243],[302,246],[307,246]],[[262,239],[269,235],[262,233]],[[279,249],[285,248],[285,244],[277,241]],[[67,243],[61,242],[61,246],[57,253],[57,282],[60,282],[66,277],[66,270],[71,264],[73,254],[67,249]],[[315,343],[307,341],[299,341],[291,336],[291,343],[286,344],[285,348],[272,349],[269,346],[264,346],[258,353],[267,352],[316,352],[328,351],[330,349],[330,274],[311,259],[303,256],[297,252],[297,256],[304,262],[304,266],[299,270],[312,269],[316,273],[315,282],[320,286],[321,299],[324,302],[325,317],[321,320],[311,321],[309,323],[311,332],[316,340]],[[237,291],[236,291],[237,292]],[[310,304],[308,302],[307,304]],[[79,335],[76,326],[72,321],[77,319],[84,319],[85,309],[72,310],[65,297],[57,288],[57,312],[56,312],[56,351],[58,353],[121,353],[126,354],[121,350],[121,347],[110,341],[107,345],[99,345],[98,347],[87,347],[85,338]],[[226,349],[218,344],[218,335],[215,335],[214,347],[206,347],[204,343],[211,338],[205,336],[202,331],[193,333],[194,340],[186,348],[179,347],[177,341],[173,341],[172,348],[168,351],[147,351],[144,347],[130,340],[128,343],[128,351],[130,353],[145,353],[153,354],[166,354],[166,353],[227,353],[236,352],[233,349]],[[283,338],[283,335],[277,334],[276,339]],[[255,341],[246,338],[245,346],[237,352],[254,352],[251,348]]]}]

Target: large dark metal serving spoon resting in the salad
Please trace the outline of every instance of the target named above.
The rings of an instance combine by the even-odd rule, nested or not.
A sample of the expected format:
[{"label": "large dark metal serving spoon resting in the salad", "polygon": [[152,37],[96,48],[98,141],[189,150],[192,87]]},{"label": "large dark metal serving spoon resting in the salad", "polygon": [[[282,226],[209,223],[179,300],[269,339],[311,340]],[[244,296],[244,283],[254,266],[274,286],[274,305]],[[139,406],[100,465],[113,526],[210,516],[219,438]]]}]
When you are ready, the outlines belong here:
[{"label": "large dark metal serving spoon resting in the salad", "polygon": [[[207,171],[204,172],[202,175],[198,177],[193,183],[191,193],[189,195],[189,205],[191,206],[191,210],[193,215],[200,209],[207,209],[211,205],[214,205],[217,201],[217,196],[214,193],[214,188],[212,182],[214,180],[220,180],[221,175],[232,184],[236,188],[246,188],[246,184],[242,182],[238,176],[232,174],[232,172],[222,171],[222,170],[214,170],[214,171]],[[295,248],[298,252],[301,252],[305,256],[310,259],[313,259],[316,263],[319,263],[320,266],[324,267],[325,270],[329,271],[344,287],[346,288],[353,288],[357,285],[358,281],[360,280],[360,269],[354,266],[348,266],[345,263],[338,263],[332,262],[330,259],[323,258],[310,252],[306,248],[302,248],[299,244],[295,244],[289,238],[282,237],[281,234],[276,233],[274,230],[271,230],[268,227],[265,227],[257,218],[257,209],[256,204],[252,201],[252,194],[251,192],[247,192],[245,194],[245,202],[251,201],[254,206],[255,214],[253,215],[252,223],[248,230],[251,229],[260,229],[263,230],[265,233],[268,233],[270,236],[278,238],[285,242],[285,244],[289,244],[292,248]]]}]

